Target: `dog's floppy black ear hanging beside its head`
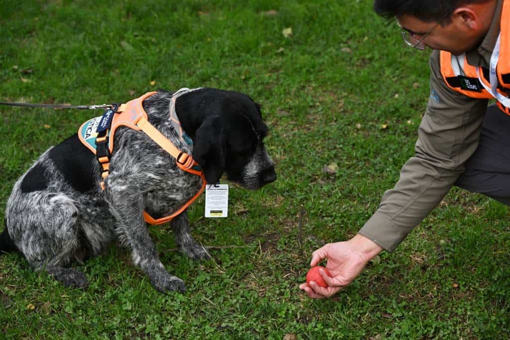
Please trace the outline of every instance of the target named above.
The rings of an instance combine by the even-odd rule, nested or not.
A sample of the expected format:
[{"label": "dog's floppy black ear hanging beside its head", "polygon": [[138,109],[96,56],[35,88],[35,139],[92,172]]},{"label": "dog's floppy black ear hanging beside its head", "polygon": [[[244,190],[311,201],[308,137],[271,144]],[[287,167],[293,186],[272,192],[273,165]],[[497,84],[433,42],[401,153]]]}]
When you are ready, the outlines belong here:
[{"label": "dog's floppy black ear hanging beside its head", "polygon": [[226,145],[219,116],[209,116],[195,132],[193,159],[198,162],[207,183],[216,184],[225,171]]}]

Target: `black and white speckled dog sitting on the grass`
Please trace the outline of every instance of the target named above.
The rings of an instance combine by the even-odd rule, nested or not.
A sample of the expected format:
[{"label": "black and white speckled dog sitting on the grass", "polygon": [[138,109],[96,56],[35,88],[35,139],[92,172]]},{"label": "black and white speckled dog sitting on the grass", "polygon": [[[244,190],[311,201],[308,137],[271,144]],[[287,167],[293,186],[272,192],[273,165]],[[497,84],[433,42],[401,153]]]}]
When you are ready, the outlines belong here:
[{"label": "black and white speckled dog sitting on the grass", "polygon": [[[249,189],[276,179],[262,141],[267,126],[260,106],[247,95],[212,88],[180,95],[175,110],[192,145],[169,122],[171,98],[172,93],[158,91],[145,99],[148,121],[193,156],[208,183],[216,183],[223,173]],[[86,287],[85,275],[66,266],[119,239],[156,289],[184,292],[183,280],[159,260],[143,211],[156,218],[175,211],[198,191],[200,177],[182,171],[146,134],[125,127],[115,133],[109,171],[101,190],[102,169],[77,135],[48,149],[14,184],[0,250],[17,249],[35,270],[46,270],[66,286]],[[184,253],[194,259],[210,257],[190,235],[186,211],[170,225]]]}]

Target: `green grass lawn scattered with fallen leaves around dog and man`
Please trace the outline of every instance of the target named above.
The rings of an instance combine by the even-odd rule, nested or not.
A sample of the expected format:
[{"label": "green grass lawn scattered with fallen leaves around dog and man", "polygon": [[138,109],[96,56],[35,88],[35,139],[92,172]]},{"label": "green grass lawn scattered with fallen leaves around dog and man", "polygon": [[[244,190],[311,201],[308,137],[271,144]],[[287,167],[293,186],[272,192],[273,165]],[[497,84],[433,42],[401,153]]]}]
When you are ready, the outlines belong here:
[{"label": "green grass lawn scattered with fallen leaves around dog and man", "polygon": [[[220,248],[211,250],[214,260],[172,251],[168,226],[150,230],[167,270],[185,280],[184,295],[157,293],[118,245],[78,266],[90,280],[86,291],[34,273],[17,254],[1,255],[0,333],[510,337],[508,208],[460,189],[336,297],[312,301],[297,288],[311,252],[353,236],[413,155],[427,59],[403,45],[369,0],[5,0],[2,101],[101,104],[158,87],[245,92],[263,105],[278,180],[257,192],[232,187],[226,219],[203,219],[203,201],[193,205],[193,235]],[[3,215],[15,180],[95,112],[0,112]],[[323,171],[331,163],[335,175]]]}]

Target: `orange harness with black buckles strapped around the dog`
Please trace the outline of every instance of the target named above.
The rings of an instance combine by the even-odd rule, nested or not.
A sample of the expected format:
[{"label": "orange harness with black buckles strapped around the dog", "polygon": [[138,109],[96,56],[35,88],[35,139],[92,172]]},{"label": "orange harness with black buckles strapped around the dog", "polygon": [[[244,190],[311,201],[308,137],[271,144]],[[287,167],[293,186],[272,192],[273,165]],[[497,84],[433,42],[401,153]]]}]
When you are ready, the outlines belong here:
[{"label": "orange harness with black buckles strapped around the dog", "polygon": [[[180,91],[181,90],[177,92]],[[106,112],[103,116],[88,120],[87,122],[83,123],[78,130],[78,137],[82,143],[97,156],[97,160],[103,168],[103,174],[101,174],[103,180],[100,183],[103,190],[105,189],[105,179],[109,175],[110,157],[114,150],[113,142],[115,131],[120,126],[128,127],[136,131],[143,131],[147,136],[159,144],[161,148],[163,148],[166,152],[175,158],[175,163],[180,169],[187,173],[200,176],[202,180],[202,186],[200,187],[200,190],[195,194],[195,196],[193,196],[188,202],[186,202],[181,208],[177,209],[177,211],[171,215],[155,219],[152,218],[146,211],[143,212],[145,222],[151,225],[160,225],[169,222],[172,220],[172,218],[179,215],[191,203],[193,203],[198,198],[198,196],[200,196],[203,189],[205,189],[207,182],[203,172],[199,169],[196,169],[198,163],[195,162],[195,160],[190,155],[177,149],[170,140],[168,140],[161,132],[159,132],[148,122],[147,113],[143,109],[142,103],[146,98],[155,93],[156,92],[147,92],[137,99],[119,105],[116,110],[110,110],[110,113]],[[177,126],[180,127],[180,131],[178,132],[180,133],[180,136],[183,136],[183,131],[181,125],[179,124],[179,119],[175,114],[176,98],[177,96],[172,96],[172,102],[170,103],[170,118],[177,124]],[[106,117],[108,114],[113,115],[113,118]],[[100,130],[100,125],[103,125],[103,121],[108,119],[110,119],[111,122],[110,127],[98,133],[97,131]],[[108,147],[106,145],[108,145]]]}]

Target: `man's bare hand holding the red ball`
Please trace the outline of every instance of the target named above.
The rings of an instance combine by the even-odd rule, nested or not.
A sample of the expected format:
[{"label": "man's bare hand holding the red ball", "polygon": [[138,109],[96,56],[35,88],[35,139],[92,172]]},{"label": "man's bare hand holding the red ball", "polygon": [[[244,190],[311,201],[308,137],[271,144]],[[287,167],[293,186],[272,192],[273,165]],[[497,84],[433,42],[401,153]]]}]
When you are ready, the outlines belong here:
[{"label": "man's bare hand holding the red ball", "polygon": [[382,251],[382,248],[363,235],[357,234],[348,241],[325,245],[312,253],[310,266],[316,266],[327,258],[326,268],[331,277],[320,270],[328,287],[322,288],[316,282],[310,285],[302,283],[299,288],[312,299],[323,299],[335,295],[340,289],[348,286],[365,268],[370,259]]}]

